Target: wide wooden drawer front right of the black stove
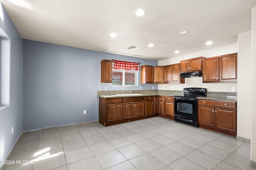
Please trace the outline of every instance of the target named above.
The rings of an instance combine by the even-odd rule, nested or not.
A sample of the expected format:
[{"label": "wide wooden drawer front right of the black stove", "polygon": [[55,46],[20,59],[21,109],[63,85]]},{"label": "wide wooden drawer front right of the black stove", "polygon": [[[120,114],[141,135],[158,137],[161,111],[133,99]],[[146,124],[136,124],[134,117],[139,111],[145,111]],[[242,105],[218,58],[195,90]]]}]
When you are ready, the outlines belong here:
[{"label": "wide wooden drawer front right of the black stove", "polygon": [[225,107],[236,109],[235,102],[220,102],[220,101],[211,101],[211,100],[198,100],[198,105],[202,106],[213,106],[213,107]]}]

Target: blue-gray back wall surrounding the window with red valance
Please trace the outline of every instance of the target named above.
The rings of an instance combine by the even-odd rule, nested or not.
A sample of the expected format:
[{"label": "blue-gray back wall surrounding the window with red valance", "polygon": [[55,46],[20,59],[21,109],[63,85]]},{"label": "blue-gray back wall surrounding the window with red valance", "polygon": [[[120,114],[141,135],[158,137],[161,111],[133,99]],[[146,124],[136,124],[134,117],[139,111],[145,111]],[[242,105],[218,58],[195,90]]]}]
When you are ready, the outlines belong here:
[{"label": "blue-gray back wall surrounding the window with red valance", "polygon": [[[97,91],[124,90],[100,83],[100,61],[158,64],[141,58],[23,40],[23,130],[98,120]],[[156,90],[157,84],[140,84]],[[139,87],[128,87],[138,90]],[[83,114],[86,110],[86,115]]]}]

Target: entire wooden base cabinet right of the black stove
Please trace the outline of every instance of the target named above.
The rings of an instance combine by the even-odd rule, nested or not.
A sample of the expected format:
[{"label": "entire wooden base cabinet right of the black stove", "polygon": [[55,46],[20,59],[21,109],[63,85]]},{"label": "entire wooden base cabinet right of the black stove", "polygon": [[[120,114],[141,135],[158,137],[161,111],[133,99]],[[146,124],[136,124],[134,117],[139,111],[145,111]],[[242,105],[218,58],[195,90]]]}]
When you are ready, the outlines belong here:
[{"label": "entire wooden base cabinet right of the black stove", "polygon": [[199,127],[236,136],[236,102],[198,100]]}]

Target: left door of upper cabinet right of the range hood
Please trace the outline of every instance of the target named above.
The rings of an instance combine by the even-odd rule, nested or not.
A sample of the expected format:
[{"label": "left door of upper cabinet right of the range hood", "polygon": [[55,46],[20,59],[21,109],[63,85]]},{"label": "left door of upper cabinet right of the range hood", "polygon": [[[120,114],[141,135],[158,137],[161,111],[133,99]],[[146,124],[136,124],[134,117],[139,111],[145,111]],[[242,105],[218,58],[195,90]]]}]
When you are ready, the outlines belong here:
[{"label": "left door of upper cabinet right of the range hood", "polygon": [[219,58],[203,60],[203,83],[219,81]]}]

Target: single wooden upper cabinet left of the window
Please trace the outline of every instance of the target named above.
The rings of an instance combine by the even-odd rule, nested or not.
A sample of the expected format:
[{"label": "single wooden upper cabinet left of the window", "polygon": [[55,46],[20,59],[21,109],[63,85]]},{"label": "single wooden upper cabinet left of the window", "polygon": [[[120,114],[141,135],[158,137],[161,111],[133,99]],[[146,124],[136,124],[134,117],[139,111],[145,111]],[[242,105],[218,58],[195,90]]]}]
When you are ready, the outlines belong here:
[{"label": "single wooden upper cabinet left of the window", "polygon": [[112,61],[102,60],[101,61],[101,83],[111,83],[112,82]]}]

